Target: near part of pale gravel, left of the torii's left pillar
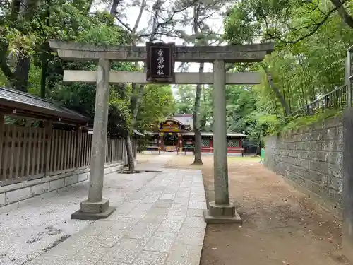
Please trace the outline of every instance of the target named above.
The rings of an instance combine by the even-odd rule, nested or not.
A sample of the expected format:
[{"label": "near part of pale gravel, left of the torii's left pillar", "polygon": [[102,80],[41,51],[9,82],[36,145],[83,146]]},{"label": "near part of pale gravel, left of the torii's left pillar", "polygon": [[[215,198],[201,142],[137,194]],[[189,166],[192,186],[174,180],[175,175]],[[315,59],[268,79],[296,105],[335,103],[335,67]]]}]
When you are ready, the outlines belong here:
[{"label": "near part of pale gravel, left of the torii's left pillar", "polygon": [[0,214],[0,264],[25,264],[85,228],[89,222],[70,218],[86,196],[87,184],[80,184],[68,192]]}]

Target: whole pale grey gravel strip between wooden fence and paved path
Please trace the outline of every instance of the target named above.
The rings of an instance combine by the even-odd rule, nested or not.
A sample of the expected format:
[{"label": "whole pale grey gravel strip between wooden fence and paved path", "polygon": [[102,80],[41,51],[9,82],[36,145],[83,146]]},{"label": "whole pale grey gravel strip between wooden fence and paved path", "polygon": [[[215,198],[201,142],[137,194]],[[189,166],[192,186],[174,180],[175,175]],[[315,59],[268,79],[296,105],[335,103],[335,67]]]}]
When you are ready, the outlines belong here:
[{"label": "whole pale grey gravel strip between wooden fence and paved path", "polygon": [[[157,159],[158,160],[158,159]],[[164,159],[165,160],[165,159]],[[163,159],[152,165],[160,166]],[[155,172],[138,174],[112,173],[104,177],[104,197],[119,206],[141,189]],[[135,182],[134,178],[139,181]],[[119,178],[117,182],[116,179]],[[71,213],[87,199],[88,182],[76,184],[67,192],[33,201],[16,211],[0,214],[0,265],[23,265],[43,252],[83,230],[91,221],[71,220]],[[114,201],[114,203],[113,203]]]}]

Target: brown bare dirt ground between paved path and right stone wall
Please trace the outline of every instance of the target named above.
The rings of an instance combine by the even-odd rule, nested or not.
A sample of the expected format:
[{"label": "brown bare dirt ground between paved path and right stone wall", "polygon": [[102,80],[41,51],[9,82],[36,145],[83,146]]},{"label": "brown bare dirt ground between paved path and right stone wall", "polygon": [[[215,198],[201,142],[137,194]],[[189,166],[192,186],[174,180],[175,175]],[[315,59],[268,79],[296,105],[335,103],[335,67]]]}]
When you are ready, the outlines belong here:
[{"label": "brown bare dirt ground between paved path and right stone wall", "polygon": [[[259,158],[229,158],[229,197],[242,225],[208,225],[201,265],[347,264],[341,255],[341,221],[323,210]],[[191,166],[175,156],[167,167],[201,169],[206,197],[213,201],[213,158]]]}]

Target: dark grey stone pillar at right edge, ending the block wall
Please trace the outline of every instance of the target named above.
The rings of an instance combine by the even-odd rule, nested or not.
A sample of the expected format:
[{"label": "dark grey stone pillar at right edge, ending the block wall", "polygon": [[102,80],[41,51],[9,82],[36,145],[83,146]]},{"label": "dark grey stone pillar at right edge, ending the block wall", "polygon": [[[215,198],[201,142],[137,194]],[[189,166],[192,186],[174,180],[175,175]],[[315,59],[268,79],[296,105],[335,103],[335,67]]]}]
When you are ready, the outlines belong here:
[{"label": "dark grey stone pillar at right edge, ending the block wall", "polygon": [[342,250],[349,261],[353,262],[353,108],[343,114],[343,225]]}]

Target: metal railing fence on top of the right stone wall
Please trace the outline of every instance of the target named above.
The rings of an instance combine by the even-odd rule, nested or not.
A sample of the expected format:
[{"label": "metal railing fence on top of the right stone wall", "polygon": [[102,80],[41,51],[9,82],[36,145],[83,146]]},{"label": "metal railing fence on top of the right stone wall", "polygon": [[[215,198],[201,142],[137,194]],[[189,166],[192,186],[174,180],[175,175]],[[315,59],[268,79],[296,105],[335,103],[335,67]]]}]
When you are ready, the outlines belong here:
[{"label": "metal railing fence on top of the right stone wall", "polygon": [[343,110],[348,106],[348,86],[343,85],[321,98],[304,105],[299,110],[292,112],[290,116],[312,116],[325,110]]}]

